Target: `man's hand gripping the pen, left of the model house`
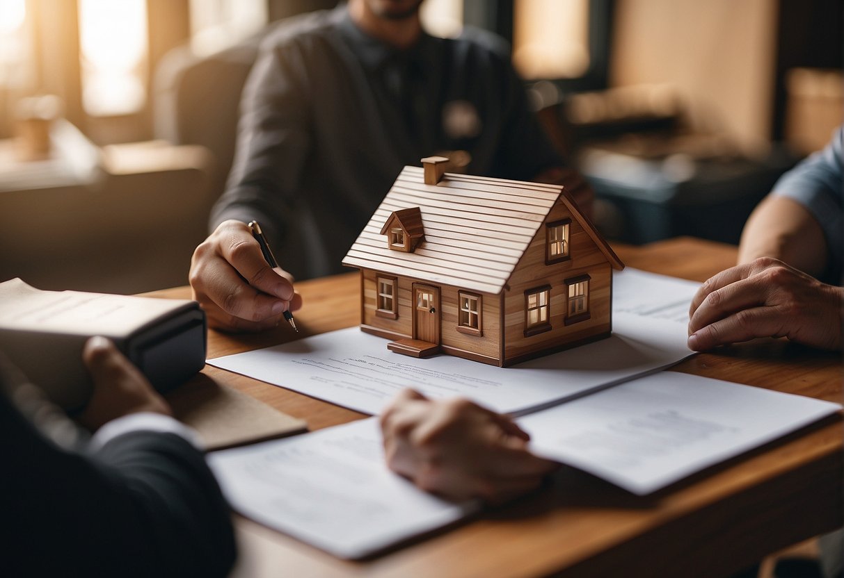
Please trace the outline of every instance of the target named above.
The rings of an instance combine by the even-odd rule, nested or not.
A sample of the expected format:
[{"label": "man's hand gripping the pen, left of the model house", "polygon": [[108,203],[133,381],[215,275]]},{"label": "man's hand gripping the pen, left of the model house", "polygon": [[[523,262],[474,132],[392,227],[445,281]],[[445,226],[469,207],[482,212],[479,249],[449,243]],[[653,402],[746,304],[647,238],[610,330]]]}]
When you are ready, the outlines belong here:
[{"label": "man's hand gripping the pen, left of the model house", "polygon": [[197,247],[189,280],[214,329],[270,329],[302,305],[292,276],[269,265],[252,229],[240,221],[220,223]]}]

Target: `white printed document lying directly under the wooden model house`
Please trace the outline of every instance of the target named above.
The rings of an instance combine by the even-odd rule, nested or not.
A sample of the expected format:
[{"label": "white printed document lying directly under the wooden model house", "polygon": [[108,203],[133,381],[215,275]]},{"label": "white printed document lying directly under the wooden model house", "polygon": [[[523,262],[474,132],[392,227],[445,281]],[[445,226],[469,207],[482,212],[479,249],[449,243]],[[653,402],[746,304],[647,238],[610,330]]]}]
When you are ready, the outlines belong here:
[{"label": "white printed document lying directly under the wooden model house", "polygon": [[[379,414],[403,388],[431,398],[463,396],[519,415],[657,371],[691,355],[687,319],[665,312],[698,283],[637,270],[615,277],[613,334],[591,344],[493,367],[453,356],[416,359],[387,351],[387,340],[359,328],[218,357],[208,363],[368,414]],[[671,305],[674,304],[674,305]]]}]

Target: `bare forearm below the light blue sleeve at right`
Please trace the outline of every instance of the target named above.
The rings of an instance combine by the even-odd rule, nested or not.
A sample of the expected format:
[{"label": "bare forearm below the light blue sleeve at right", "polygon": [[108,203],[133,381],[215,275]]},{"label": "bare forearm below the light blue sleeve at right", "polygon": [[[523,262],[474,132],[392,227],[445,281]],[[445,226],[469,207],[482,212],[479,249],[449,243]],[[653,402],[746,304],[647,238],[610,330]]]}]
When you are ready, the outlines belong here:
[{"label": "bare forearm below the light blue sleeve at right", "polygon": [[738,247],[738,264],[759,257],[782,260],[811,276],[821,276],[829,250],[823,230],[797,201],[768,196],[750,215]]}]

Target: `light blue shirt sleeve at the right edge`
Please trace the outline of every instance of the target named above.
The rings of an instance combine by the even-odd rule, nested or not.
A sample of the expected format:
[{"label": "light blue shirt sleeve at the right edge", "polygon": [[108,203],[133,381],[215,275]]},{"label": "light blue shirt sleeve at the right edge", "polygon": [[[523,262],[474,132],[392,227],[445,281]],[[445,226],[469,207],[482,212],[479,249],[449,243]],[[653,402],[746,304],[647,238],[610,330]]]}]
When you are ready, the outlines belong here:
[{"label": "light blue shirt sleeve at the right edge", "polygon": [[836,272],[844,264],[844,126],[826,147],[782,175],[771,195],[797,201],[818,221]]}]

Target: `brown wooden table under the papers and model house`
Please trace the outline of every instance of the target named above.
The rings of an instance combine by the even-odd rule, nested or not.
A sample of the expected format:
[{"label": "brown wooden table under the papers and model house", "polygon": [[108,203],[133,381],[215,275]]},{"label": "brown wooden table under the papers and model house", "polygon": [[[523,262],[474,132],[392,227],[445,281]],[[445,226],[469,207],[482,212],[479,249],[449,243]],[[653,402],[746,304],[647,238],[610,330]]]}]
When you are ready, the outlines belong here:
[{"label": "brown wooden table under the papers and model house", "polygon": [[[734,264],[736,249],[693,238],[617,246],[625,264],[705,281]],[[208,335],[208,356],[274,345],[359,323],[356,273],[297,284],[301,334]],[[154,292],[185,297],[187,288]],[[841,401],[836,353],[785,340],[756,340],[700,354],[674,367],[728,381]],[[205,377],[305,418],[311,430],[363,417],[284,388],[214,367]],[[185,387],[191,387],[188,383]],[[667,490],[636,497],[564,468],[553,484],[508,506],[363,562],[336,559],[238,517],[239,576],[713,576],[825,533],[842,516],[841,415],[744,454]]]}]

